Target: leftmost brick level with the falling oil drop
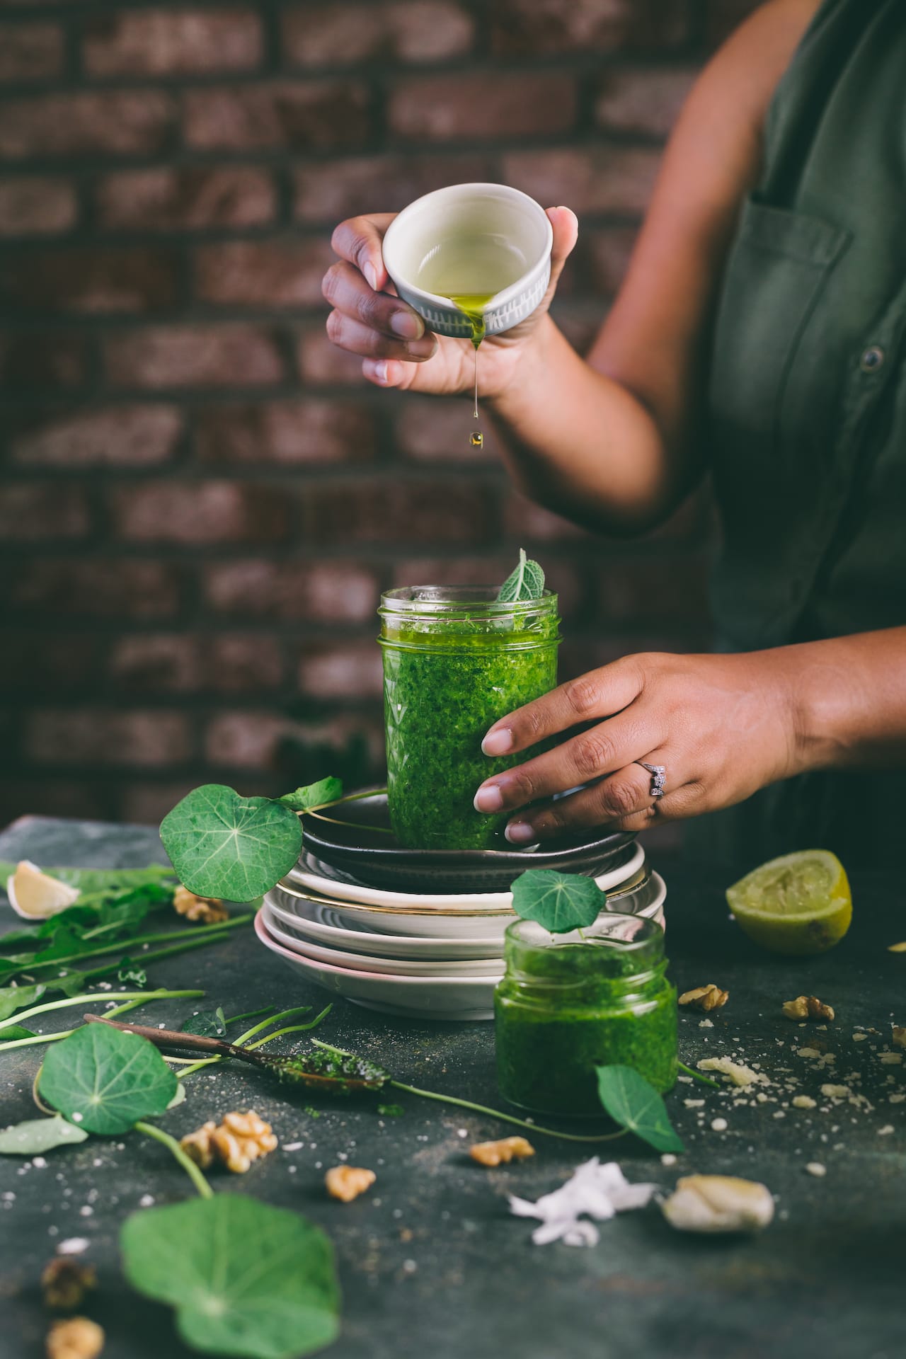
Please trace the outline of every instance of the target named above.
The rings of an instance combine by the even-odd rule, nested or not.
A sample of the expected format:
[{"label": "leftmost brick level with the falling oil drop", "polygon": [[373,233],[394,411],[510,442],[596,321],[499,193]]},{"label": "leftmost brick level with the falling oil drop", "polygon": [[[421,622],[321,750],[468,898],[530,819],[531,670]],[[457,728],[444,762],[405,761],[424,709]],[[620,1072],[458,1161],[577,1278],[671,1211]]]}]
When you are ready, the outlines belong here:
[{"label": "leftmost brick level with the falling oil drop", "polygon": [[30,467],[147,467],[173,457],[183,420],[177,406],[134,405],[12,417],[10,457]]}]

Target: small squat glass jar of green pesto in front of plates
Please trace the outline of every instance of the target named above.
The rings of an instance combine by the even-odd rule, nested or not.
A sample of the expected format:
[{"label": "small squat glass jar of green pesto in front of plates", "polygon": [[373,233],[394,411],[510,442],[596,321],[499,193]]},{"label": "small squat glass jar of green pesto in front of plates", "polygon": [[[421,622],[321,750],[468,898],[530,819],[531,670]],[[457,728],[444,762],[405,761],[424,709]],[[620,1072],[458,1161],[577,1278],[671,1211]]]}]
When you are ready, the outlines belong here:
[{"label": "small squat glass jar of green pesto in front of plates", "polygon": [[604,912],[551,935],[516,920],[494,991],[497,1082],[535,1113],[599,1114],[595,1067],[634,1067],[656,1090],[676,1080],[676,989],[655,920]]}]

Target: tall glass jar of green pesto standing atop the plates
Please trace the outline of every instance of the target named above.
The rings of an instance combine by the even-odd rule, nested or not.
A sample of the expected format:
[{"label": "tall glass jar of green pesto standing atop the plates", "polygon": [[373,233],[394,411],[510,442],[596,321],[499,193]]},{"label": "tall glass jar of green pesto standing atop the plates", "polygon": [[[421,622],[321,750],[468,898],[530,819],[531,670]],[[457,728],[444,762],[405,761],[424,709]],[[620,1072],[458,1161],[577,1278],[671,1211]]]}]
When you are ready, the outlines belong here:
[{"label": "tall glass jar of green pesto standing atop the plates", "polygon": [[505,847],[505,814],[475,811],[499,718],[557,684],[557,595],[499,603],[497,586],[406,586],[380,597],[390,822],[418,849]]}]

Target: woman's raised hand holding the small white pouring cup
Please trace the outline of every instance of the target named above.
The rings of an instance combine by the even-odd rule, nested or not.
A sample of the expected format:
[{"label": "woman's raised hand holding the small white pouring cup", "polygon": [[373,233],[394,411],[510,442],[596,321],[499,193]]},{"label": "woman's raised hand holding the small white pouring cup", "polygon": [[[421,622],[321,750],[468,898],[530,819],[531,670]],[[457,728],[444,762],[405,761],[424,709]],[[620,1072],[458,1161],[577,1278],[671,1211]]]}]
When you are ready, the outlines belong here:
[{"label": "woman's raised hand holding the small white pouring cup", "polygon": [[[470,391],[470,340],[436,336],[417,311],[397,296],[384,269],[380,243],[395,213],[380,212],[341,222],[331,238],[340,261],[327,269],[322,292],[333,306],[327,334],[341,349],[363,356],[361,371],[379,387],[452,394]],[[579,223],[569,208],[547,208],[554,228],[550,284],[538,307],[503,334],[481,345],[481,390],[485,397],[507,389],[557,288],[576,245]]]}]

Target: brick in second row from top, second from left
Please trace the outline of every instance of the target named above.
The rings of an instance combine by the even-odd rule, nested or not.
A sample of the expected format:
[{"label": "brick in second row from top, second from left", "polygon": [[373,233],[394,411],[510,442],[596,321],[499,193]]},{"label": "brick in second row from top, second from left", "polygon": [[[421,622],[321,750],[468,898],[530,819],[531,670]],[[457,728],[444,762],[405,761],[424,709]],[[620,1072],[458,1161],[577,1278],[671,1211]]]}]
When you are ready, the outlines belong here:
[{"label": "brick in second row from top, second from left", "polygon": [[189,90],[185,136],[204,151],[330,151],[371,140],[368,88],[352,80]]}]

